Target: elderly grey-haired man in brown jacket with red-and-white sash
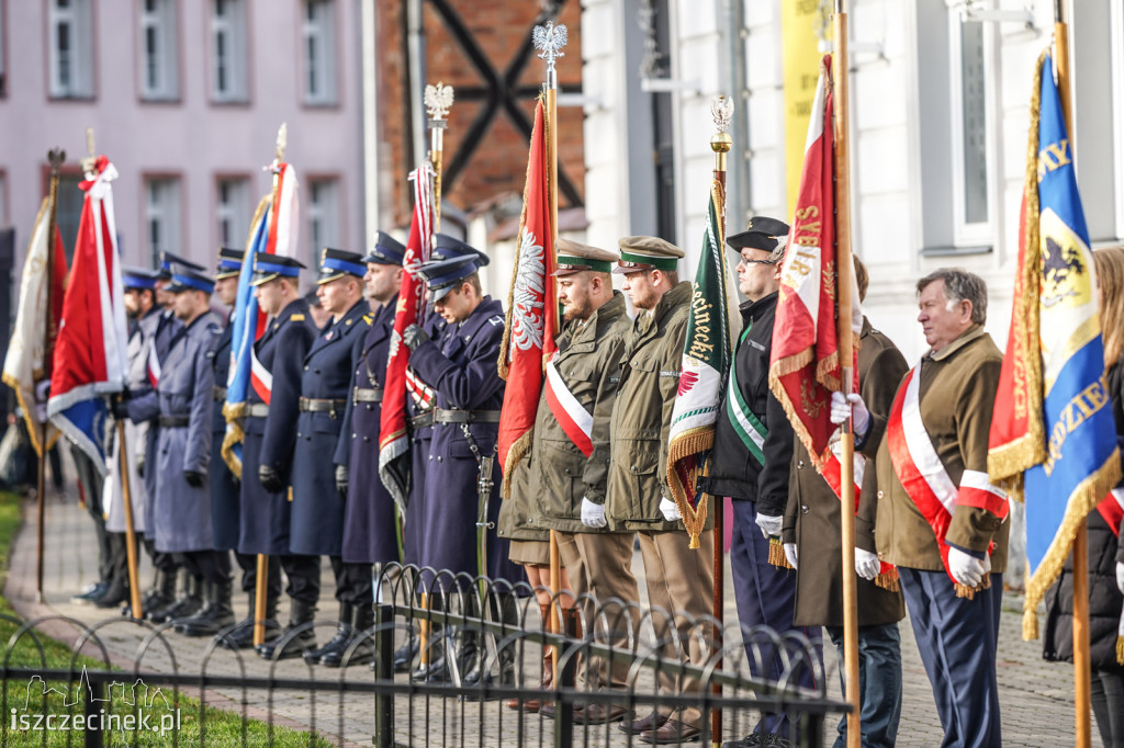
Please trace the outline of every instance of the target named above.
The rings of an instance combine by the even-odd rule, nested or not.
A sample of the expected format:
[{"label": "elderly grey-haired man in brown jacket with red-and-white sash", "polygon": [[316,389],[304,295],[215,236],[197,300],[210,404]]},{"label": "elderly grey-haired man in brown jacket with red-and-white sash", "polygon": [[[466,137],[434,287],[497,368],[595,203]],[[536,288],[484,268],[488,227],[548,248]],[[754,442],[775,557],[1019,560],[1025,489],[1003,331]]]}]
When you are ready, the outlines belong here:
[{"label": "elderly grey-haired man in brown jacket with red-and-white sash", "polygon": [[[930,350],[898,385],[878,445],[874,541],[879,558],[898,567],[941,745],[998,746],[996,646],[1010,523],[1006,494],[988,482],[987,451],[1003,355],[984,330],[979,276],[935,271],[917,282],[917,299]],[[849,399],[854,422],[869,423],[862,398]]]}]

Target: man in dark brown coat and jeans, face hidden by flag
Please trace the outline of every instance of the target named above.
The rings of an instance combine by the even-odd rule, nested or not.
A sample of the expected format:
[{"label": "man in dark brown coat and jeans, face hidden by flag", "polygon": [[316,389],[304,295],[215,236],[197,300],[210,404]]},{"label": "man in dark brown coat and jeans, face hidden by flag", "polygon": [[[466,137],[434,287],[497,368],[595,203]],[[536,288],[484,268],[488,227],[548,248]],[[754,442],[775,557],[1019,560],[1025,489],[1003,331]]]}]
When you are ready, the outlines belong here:
[{"label": "man in dark brown coat and jeans, face hidden by flag", "polygon": [[[855,257],[859,299],[867,295],[869,277]],[[874,516],[878,508],[878,480],[873,459],[886,430],[886,421],[898,382],[909,368],[905,357],[888,337],[862,320],[859,348],[859,385],[862,401],[870,410],[855,412],[855,430],[862,427],[864,440],[855,447],[855,482],[859,511],[855,517],[855,571],[859,575],[859,694],[862,708],[862,745],[867,748],[894,746],[901,715],[901,647],[898,621],[905,618],[901,593],[874,583],[879,560],[874,549]],[[846,418],[846,400],[836,393],[833,414],[841,410]],[[835,419],[833,419],[835,420]],[[862,472],[860,473],[860,467]],[[861,477],[860,477],[861,476]],[[823,626],[839,651],[843,676],[843,574],[841,564],[840,498],[821,475],[807,449],[796,439],[789,478],[788,508],[781,537],[785,555],[796,566],[796,609],[794,624]],[[850,569],[849,569],[850,572]],[[889,584],[885,577],[879,583]],[[846,718],[840,720],[836,748],[846,745]]]}]

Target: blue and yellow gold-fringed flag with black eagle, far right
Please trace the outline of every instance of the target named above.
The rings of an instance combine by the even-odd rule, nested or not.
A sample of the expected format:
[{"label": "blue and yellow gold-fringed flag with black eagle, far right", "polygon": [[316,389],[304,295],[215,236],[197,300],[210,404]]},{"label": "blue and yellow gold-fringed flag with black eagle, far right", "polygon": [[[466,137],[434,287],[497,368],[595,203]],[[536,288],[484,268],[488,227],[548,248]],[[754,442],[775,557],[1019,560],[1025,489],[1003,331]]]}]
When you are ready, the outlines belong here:
[{"label": "blue and yellow gold-fringed flag with black eagle, far right", "polygon": [[[1050,55],[1043,52],[1031,97],[1024,240],[1012,313],[1026,323],[1012,328],[1003,371],[1015,386],[1005,389],[1000,381],[988,453],[992,483],[1023,475],[1031,571],[1024,638],[1037,636],[1035,610],[1061,572],[1078,528],[1121,477],[1093,252],[1072,153]],[[1032,361],[1035,355],[1041,362]],[[1041,429],[1033,427],[1036,419]]]}]

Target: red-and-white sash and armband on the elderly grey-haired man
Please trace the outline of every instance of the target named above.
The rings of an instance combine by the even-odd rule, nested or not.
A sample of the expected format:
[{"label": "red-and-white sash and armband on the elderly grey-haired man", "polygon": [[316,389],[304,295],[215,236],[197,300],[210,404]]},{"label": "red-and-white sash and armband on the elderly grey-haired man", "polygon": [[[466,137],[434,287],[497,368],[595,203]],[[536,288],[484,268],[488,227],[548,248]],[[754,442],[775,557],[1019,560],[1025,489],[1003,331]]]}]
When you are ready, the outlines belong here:
[{"label": "red-and-white sash and armband on the elderly grey-haired man", "polygon": [[[949,544],[944,538],[957,505],[986,509],[1006,519],[1007,494],[991,485],[987,473],[980,471],[966,469],[959,489],[949,477],[921,418],[921,364],[909,371],[905,386],[894,399],[886,438],[894,472],[922,517],[933,528],[941,560],[948,572]],[[951,574],[949,576],[952,577]]]}]

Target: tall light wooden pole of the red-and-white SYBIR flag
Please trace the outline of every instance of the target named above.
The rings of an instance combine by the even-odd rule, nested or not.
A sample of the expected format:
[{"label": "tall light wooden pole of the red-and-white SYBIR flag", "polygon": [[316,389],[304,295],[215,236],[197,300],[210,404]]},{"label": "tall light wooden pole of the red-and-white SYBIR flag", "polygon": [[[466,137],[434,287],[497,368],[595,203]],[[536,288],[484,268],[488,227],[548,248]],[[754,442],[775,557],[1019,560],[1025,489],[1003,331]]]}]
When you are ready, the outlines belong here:
[{"label": "tall light wooden pole of the red-and-white SYBIR flag", "polygon": [[[839,299],[840,367],[843,391],[854,387],[854,346],[851,330],[851,153],[847,84],[847,15],[846,0],[835,0],[834,54],[832,55],[835,98],[835,235],[836,294]],[[859,601],[854,571],[854,431],[851,418],[840,434],[840,527],[843,555],[843,664],[846,673],[845,700],[851,708],[846,718],[847,748],[860,748],[859,695]]]}]

